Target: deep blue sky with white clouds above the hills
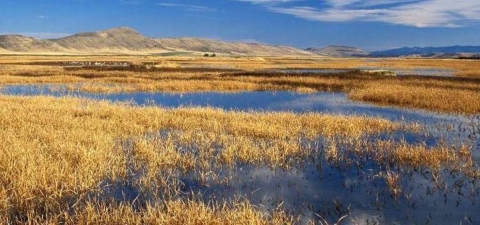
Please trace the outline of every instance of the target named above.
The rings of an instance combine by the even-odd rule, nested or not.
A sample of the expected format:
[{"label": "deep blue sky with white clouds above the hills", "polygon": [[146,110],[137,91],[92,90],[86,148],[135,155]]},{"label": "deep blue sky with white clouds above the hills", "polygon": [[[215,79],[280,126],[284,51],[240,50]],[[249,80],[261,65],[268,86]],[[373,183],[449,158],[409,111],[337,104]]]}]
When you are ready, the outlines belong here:
[{"label": "deep blue sky with white clouds above the hills", "polygon": [[131,27],[149,37],[291,45],[480,45],[480,0],[1,0],[0,34]]}]

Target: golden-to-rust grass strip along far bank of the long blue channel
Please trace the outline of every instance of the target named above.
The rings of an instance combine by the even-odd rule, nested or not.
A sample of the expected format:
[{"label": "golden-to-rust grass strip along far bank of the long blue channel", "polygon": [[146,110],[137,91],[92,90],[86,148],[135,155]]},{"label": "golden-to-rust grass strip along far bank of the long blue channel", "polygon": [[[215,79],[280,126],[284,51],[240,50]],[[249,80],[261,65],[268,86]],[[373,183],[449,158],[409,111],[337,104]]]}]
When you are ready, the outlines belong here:
[{"label": "golden-to-rust grass strip along far bank of the long blue channel", "polygon": [[[345,92],[352,100],[444,113],[480,113],[480,79],[386,77],[351,71],[340,74],[288,74],[157,68],[0,67],[0,85],[65,84],[92,93],[297,91]],[[80,85],[76,85],[80,84]]]}]

